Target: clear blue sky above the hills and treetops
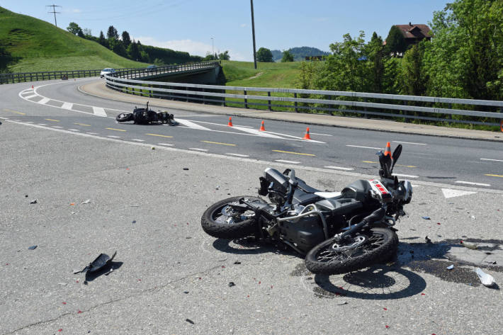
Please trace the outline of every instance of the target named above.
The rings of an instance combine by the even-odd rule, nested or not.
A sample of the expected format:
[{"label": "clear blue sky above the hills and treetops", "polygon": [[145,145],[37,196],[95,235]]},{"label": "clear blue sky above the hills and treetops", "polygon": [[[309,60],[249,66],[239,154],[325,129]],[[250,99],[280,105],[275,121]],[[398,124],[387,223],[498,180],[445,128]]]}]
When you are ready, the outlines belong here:
[{"label": "clear blue sky above the hills and treetops", "polygon": [[[233,60],[253,60],[252,20],[249,0],[0,0],[0,6],[54,23],[66,29],[70,22],[89,28],[98,36],[109,25],[120,33],[127,30],[142,44],[169,47],[204,56],[229,50]],[[428,24],[434,11],[448,1],[422,0],[254,0],[256,47],[286,50],[290,47],[317,47],[329,51],[342,35],[370,39],[375,31],[386,38],[391,25]]]}]

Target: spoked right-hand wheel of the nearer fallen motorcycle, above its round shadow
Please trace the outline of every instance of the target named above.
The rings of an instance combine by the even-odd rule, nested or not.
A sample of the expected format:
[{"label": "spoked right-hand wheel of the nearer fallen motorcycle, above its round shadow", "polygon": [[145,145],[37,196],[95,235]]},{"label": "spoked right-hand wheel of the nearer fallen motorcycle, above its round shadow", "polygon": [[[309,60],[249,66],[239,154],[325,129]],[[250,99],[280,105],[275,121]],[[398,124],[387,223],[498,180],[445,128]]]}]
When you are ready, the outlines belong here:
[{"label": "spoked right-hand wheel of the nearer fallen motorcycle, above its round shadow", "polygon": [[334,251],[334,240],[327,239],[307,253],[305,266],[312,273],[335,275],[387,261],[397,251],[397,234],[391,229],[380,227],[372,228],[370,232],[372,236],[368,237],[366,243],[346,251]]}]

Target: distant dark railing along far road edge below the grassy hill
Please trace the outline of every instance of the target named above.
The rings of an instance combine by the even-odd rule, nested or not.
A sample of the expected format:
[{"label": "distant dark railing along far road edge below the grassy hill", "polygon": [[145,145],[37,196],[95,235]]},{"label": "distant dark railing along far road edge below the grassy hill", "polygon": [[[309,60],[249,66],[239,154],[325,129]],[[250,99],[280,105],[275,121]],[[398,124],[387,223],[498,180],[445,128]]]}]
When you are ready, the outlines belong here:
[{"label": "distant dark railing along far road edge below the grassy hill", "polygon": [[[142,78],[154,76],[157,74],[166,74],[168,72],[186,72],[195,69],[204,69],[207,67],[217,67],[219,62],[202,62],[183,65],[166,65],[163,67],[154,67],[149,69],[146,67],[115,69],[115,74],[120,74],[125,78]],[[0,84],[13,84],[26,81],[39,81],[51,79],[67,79],[84,78],[87,76],[99,76],[101,69],[94,70],[72,70],[72,71],[47,71],[47,72],[18,72],[0,74]]]}]

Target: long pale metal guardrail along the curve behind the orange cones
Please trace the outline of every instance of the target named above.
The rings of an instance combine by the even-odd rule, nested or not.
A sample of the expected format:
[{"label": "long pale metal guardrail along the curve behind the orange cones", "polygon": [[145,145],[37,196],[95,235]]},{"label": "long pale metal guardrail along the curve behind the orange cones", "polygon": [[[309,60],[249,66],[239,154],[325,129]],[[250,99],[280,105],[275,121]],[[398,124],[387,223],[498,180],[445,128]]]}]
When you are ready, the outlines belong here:
[{"label": "long pale metal guardrail along the curve behind the orange cones", "polygon": [[[108,87],[125,93],[150,96],[154,98],[176,98],[183,99],[185,101],[220,103],[222,106],[226,106],[231,103],[244,105],[245,108],[249,108],[249,106],[260,106],[262,108],[266,107],[268,110],[273,110],[273,107],[290,108],[295,110],[297,113],[315,110],[329,113],[356,113],[367,118],[369,115],[378,115],[405,118],[406,120],[417,119],[437,122],[441,121],[446,123],[467,123],[494,126],[500,126],[500,120],[503,120],[503,101],[436,98],[431,96],[401,96],[395,94],[346,91],[271,89],[262,87],[164,83],[159,81],[123,78],[120,76],[120,73],[115,73],[113,76],[105,77],[106,85]],[[243,94],[225,93],[226,91],[242,91]],[[267,96],[249,95],[250,91],[261,93],[265,92],[267,93]],[[273,96],[271,93],[276,94],[276,96]],[[278,94],[283,96],[277,96]],[[293,97],[284,96],[286,94],[293,95]],[[322,96],[322,98],[317,98],[318,96]],[[350,101],[347,100],[348,98]],[[226,99],[238,99],[239,101],[229,101]],[[369,102],[369,99],[373,99],[375,101]],[[265,101],[266,103],[262,103],[262,101]],[[383,101],[386,101],[386,103],[383,103]],[[273,104],[272,102],[277,103]],[[286,102],[290,104],[278,104]],[[426,106],[414,106],[417,104],[423,104]],[[460,106],[463,108],[468,108],[470,106],[483,106],[482,109],[485,110],[453,108],[453,106]],[[344,107],[350,107],[353,109],[347,109]],[[419,113],[422,115],[419,115]],[[426,113],[426,115],[423,115],[423,113]],[[453,115],[470,117],[470,120],[456,119],[453,118]]]}]

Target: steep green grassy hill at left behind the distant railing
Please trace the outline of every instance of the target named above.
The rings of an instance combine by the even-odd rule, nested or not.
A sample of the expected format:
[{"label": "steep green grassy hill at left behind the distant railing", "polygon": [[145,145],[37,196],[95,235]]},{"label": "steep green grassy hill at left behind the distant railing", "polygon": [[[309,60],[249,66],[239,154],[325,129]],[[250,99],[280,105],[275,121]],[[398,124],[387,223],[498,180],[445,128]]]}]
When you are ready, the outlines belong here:
[{"label": "steep green grassy hill at left behind the distant railing", "polygon": [[31,16],[0,7],[0,41],[16,58],[12,72],[38,72],[104,67],[146,67],[120,57],[90,40]]}]

